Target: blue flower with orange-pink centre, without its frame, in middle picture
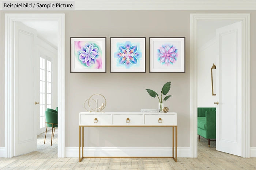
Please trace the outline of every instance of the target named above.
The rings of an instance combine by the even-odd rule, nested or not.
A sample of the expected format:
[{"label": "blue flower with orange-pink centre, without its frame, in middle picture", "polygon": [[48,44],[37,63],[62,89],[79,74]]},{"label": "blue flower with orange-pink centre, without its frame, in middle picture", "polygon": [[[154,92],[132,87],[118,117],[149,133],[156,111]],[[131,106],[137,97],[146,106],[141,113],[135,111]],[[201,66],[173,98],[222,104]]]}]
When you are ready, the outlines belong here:
[{"label": "blue flower with orange-pink centre, without its frame, in middle picture", "polygon": [[126,41],[125,43],[117,43],[116,49],[115,58],[117,58],[117,66],[131,68],[139,63],[141,59],[139,44],[132,44],[130,41]]}]

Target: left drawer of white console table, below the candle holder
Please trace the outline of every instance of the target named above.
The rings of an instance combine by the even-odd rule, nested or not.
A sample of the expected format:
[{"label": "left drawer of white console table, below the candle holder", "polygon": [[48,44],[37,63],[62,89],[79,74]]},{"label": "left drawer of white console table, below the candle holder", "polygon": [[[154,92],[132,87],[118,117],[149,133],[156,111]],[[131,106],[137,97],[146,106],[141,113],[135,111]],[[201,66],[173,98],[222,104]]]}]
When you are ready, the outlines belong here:
[{"label": "left drawer of white console table, below the candle holder", "polygon": [[111,115],[80,115],[80,124],[111,124]]}]

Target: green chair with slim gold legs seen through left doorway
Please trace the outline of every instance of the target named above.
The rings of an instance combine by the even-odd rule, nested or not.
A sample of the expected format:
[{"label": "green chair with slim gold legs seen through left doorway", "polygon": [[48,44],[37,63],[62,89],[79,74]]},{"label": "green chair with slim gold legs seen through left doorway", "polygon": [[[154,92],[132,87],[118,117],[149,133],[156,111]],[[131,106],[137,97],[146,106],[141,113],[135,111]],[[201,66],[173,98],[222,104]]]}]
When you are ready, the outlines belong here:
[{"label": "green chair with slim gold legs seen through left doorway", "polygon": [[[51,146],[52,146],[52,139],[54,138],[55,128],[58,127],[58,112],[56,112],[56,110],[47,108],[45,111],[45,120],[46,120],[45,138],[46,138],[47,128],[52,127],[52,137],[51,137]],[[54,132],[53,132],[53,128],[54,128]]]}]

